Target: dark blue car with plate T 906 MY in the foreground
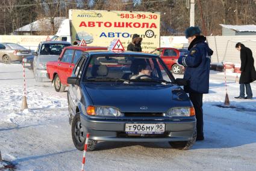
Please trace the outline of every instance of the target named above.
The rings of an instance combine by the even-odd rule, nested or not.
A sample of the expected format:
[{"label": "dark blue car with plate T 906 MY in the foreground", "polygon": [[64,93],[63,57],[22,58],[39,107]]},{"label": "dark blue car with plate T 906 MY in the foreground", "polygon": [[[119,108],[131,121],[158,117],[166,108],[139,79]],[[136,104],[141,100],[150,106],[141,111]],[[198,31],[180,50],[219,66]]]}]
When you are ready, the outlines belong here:
[{"label": "dark blue car with plate T 906 MY in the foreground", "polygon": [[100,141],[169,142],[189,149],[196,139],[195,110],[157,55],[84,52],[68,77],[69,121],[75,147]]}]

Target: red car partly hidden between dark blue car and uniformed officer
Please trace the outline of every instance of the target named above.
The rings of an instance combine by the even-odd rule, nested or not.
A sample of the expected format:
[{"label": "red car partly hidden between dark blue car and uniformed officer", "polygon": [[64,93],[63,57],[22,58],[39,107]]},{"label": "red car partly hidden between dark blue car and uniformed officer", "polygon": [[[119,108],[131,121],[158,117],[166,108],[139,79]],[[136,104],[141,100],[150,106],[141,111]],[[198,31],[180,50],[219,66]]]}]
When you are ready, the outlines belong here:
[{"label": "red car partly hidden between dark blue car and uniformed officer", "polygon": [[163,59],[164,64],[175,74],[182,74],[184,71],[183,65],[178,64],[180,51],[171,47],[160,47],[152,51],[155,55],[159,55]]}]

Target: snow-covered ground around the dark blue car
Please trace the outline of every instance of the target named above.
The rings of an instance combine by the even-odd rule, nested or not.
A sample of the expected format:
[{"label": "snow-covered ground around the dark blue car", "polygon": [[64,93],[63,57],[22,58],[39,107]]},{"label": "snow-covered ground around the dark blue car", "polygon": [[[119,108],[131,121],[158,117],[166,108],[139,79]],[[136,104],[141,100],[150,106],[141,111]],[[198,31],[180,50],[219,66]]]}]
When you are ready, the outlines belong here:
[{"label": "snow-covered ground around the dark blue car", "polygon": [[[162,142],[100,142],[87,152],[86,170],[256,170],[256,83],[253,100],[237,100],[236,75],[227,74],[236,108],[221,108],[224,75],[211,71],[210,94],[204,95],[205,140],[189,151]],[[83,152],[73,146],[66,92],[55,92],[51,82],[37,83],[27,69],[26,77],[28,109],[22,111],[22,66],[0,63],[2,158],[17,170],[80,170]]]}]

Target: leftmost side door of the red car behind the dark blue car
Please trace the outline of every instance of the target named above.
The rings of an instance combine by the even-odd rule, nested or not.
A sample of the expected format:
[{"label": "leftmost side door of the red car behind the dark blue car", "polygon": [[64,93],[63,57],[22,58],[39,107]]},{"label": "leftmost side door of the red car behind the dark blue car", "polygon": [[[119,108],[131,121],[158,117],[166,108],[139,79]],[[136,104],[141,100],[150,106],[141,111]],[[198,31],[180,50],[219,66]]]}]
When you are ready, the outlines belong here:
[{"label": "leftmost side door of the red car behind the dark blue car", "polygon": [[73,52],[73,49],[66,49],[60,61],[58,61],[58,76],[63,84],[67,84],[67,77],[71,75],[73,70]]}]

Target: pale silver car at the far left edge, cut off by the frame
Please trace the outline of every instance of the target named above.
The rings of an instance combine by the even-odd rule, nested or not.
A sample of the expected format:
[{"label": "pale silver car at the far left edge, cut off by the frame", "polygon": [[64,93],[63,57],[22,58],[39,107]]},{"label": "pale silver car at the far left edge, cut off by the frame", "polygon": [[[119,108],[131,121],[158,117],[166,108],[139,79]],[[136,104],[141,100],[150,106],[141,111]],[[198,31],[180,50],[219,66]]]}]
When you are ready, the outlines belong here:
[{"label": "pale silver car at the far left edge, cut off by the frame", "polygon": [[31,50],[16,43],[0,43],[0,61],[9,64],[14,61],[22,61],[23,58],[31,56]]}]

